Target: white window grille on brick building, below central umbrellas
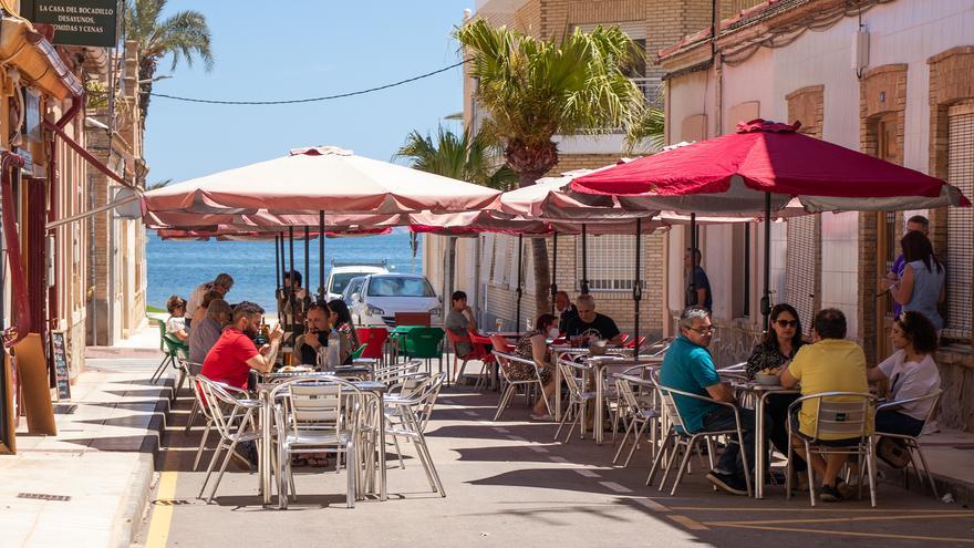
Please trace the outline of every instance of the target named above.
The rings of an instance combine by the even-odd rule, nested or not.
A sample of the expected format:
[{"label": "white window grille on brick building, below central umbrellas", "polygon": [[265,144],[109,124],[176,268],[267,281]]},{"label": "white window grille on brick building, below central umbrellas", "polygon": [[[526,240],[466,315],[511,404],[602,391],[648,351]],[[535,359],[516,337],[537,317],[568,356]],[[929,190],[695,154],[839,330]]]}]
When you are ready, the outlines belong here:
[{"label": "white window grille on brick building, below central umbrellas", "polygon": [[[592,291],[632,291],[635,271],[635,237],[629,235],[589,236],[588,278]],[[645,249],[645,241],[643,241]],[[576,291],[581,290],[582,239],[576,238]],[[645,276],[645,260],[642,261]],[[645,288],[645,281],[643,281]]]}]

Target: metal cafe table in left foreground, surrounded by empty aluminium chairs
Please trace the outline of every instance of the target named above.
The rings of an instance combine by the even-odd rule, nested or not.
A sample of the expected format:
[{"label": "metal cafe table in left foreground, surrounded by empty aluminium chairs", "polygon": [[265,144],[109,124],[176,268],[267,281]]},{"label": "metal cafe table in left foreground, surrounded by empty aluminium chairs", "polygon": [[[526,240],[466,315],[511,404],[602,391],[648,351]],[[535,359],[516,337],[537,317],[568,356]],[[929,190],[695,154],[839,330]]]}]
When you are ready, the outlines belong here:
[{"label": "metal cafe table in left foreground, surrounded by empty aluminium chairs", "polygon": [[[329,376],[333,376],[329,373],[315,373],[315,372],[292,372],[292,373],[268,373],[262,375],[266,380],[287,380],[287,379],[307,379],[309,381],[313,381],[315,379],[324,379]],[[385,472],[385,392],[388,387],[381,382],[376,381],[354,381],[352,384],[361,390],[366,397],[373,399],[376,402],[376,417],[377,428],[379,428],[379,442],[376,443],[376,451],[379,453],[379,499],[387,500],[388,494],[386,492],[386,472]],[[267,506],[270,504],[270,490],[271,490],[271,469],[270,469],[270,459],[271,459],[271,424],[272,424],[272,407],[273,402],[270,401],[270,393],[273,391],[278,383],[273,382],[261,382],[257,385],[257,393],[260,399],[260,430],[261,430],[261,444],[260,444],[260,458],[258,462],[258,475],[260,477],[260,490],[263,495],[263,505]],[[350,472],[351,473],[351,472]],[[373,486],[366,486],[366,488],[373,488]],[[371,490],[374,493],[374,490]],[[280,495],[279,495],[280,496]]]}]

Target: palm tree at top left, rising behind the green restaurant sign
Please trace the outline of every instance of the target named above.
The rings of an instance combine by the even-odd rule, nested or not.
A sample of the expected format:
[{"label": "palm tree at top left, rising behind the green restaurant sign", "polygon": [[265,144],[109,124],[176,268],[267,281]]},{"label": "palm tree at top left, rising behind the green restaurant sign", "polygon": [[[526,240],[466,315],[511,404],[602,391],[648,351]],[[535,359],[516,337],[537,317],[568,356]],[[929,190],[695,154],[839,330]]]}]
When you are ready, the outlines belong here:
[{"label": "palm tree at top left, rising behind the green restaurant sign", "polygon": [[213,70],[211,35],[206,15],[195,10],[180,11],[162,19],[167,0],[126,0],[122,33],[125,40],[138,42],[138,81],[142,85],[138,107],[142,123],[148,114],[153,77],[159,62],[173,56],[170,70],[180,60],[193,66],[194,58],[203,60],[207,72]]}]

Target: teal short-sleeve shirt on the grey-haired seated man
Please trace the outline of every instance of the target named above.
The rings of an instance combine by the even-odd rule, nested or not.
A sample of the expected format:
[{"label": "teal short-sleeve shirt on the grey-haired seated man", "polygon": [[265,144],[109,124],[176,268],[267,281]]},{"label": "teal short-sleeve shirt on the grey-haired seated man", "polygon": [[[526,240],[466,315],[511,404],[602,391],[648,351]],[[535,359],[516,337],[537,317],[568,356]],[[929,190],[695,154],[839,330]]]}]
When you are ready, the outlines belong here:
[{"label": "teal short-sleeve shirt on the grey-haired seated man", "polygon": [[[721,375],[714,366],[714,360],[707,349],[690,342],[685,337],[677,337],[663,358],[660,369],[660,384],[691,394],[709,397],[706,387],[721,383]],[[673,401],[690,432],[704,428],[704,417],[719,409],[719,405],[673,394]]]}]

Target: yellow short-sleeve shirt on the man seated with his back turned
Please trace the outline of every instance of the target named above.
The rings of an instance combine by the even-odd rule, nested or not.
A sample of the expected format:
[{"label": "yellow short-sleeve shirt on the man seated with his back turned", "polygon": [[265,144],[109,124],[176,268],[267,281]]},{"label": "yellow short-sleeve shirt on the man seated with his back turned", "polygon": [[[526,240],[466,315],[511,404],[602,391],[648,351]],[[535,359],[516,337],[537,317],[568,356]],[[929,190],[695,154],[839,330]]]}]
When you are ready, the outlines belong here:
[{"label": "yellow short-sleeve shirt on the man seated with his back turned", "polygon": [[[788,371],[801,382],[804,396],[822,392],[869,392],[869,383],[866,379],[866,354],[859,344],[845,339],[822,339],[815,344],[801,347],[788,365]],[[835,401],[842,400],[849,397],[835,399]],[[817,416],[818,401],[807,401],[801,404],[798,423],[802,434],[815,435]],[[871,413],[869,423],[869,431],[872,432]],[[822,434],[818,437],[842,440],[852,436]]]}]

